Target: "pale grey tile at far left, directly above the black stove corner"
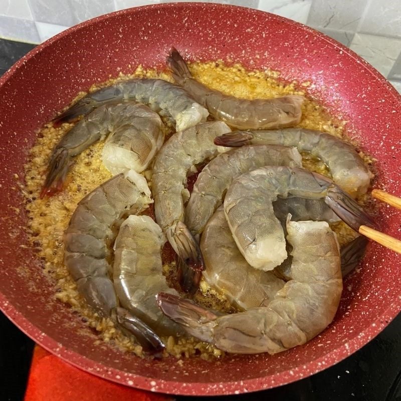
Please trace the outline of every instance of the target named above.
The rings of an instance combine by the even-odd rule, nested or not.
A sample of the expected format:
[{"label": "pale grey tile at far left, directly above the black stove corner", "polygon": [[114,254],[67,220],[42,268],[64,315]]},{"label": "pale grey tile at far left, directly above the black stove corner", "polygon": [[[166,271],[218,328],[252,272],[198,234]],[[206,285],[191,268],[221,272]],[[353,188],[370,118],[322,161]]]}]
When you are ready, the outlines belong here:
[{"label": "pale grey tile at far left, directly above the black stove corner", "polygon": [[19,18],[0,16],[0,38],[28,43],[40,43],[35,23]]}]

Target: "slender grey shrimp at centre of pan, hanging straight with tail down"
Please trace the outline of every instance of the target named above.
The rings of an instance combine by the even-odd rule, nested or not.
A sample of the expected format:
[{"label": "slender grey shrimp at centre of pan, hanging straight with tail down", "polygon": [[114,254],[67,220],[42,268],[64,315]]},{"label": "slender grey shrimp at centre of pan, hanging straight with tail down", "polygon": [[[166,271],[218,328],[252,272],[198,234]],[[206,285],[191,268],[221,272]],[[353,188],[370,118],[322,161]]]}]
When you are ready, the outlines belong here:
[{"label": "slender grey shrimp at centre of pan, hanging straight with tail down", "polygon": [[[184,203],[189,198],[189,192],[184,185],[188,173],[195,171],[196,164],[227,150],[213,143],[218,135],[225,132],[230,132],[230,128],[222,121],[198,124],[176,132],[161,147],[153,166],[152,188],[156,222],[180,260],[188,261],[194,270],[194,287],[200,279],[203,260],[196,241],[182,223]],[[179,269],[183,268],[183,265],[180,266]],[[185,288],[186,284],[181,280],[187,278],[186,274],[184,276],[180,275],[179,280]],[[188,281],[189,287],[192,287],[191,280],[192,278]]]}]

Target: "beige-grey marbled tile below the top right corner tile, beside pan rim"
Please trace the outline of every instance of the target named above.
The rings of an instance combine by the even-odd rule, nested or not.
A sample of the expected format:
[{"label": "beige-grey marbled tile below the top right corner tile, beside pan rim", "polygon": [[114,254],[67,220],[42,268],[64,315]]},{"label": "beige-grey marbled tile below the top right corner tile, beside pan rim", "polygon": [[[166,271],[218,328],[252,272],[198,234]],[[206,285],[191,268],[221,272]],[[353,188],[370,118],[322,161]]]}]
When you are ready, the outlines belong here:
[{"label": "beige-grey marbled tile below the top right corner tile, beside pan rim", "polygon": [[401,40],[355,34],[349,48],[387,77],[401,53]]}]

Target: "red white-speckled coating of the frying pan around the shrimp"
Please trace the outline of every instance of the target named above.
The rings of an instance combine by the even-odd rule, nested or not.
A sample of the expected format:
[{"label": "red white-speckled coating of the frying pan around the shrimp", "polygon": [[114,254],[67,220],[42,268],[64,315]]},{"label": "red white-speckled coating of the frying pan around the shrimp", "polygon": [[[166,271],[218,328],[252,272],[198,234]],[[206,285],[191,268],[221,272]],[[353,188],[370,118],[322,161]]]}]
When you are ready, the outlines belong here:
[{"label": "red white-speckled coating of the frying pan around the shrimp", "polygon": [[[49,351],[101,377],[176,394],[230,394],[285,384],[340,361],[379,333],[401,309],[400,255],[370,244],[360,269],[347,277],[335,321],[308,344],[269,356],[222,361],[141,360],[95,337],[52,298],[24,231],[27,216],[14,174],[34,131],[79,90],[139,63],[164,67],[174,45],[186,59],[240,61],[310,81],[308,92],[349,121],[348,133],[378,159],[379,183],[400,196],[401,98],[353,52],[300,24],[263,12],[213,4],[164,4],[103,16],[45,42],[0,79],[0,307]],[[16,215],[18,207],[20,213]],[[382,207],[380,222],[400,237],[399,212]]]}]

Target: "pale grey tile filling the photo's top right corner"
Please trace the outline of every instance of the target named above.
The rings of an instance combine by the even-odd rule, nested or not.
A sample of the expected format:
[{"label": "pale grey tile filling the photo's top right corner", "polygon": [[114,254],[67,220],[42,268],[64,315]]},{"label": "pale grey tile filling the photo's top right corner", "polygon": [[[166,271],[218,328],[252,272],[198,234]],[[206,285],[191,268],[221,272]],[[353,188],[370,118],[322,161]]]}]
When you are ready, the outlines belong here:
[{"label": "pale grey tile filling the photo's top right corner", "polygon": [[359,32],[401,38],[401,2],[399,0],[370,2]]}]

